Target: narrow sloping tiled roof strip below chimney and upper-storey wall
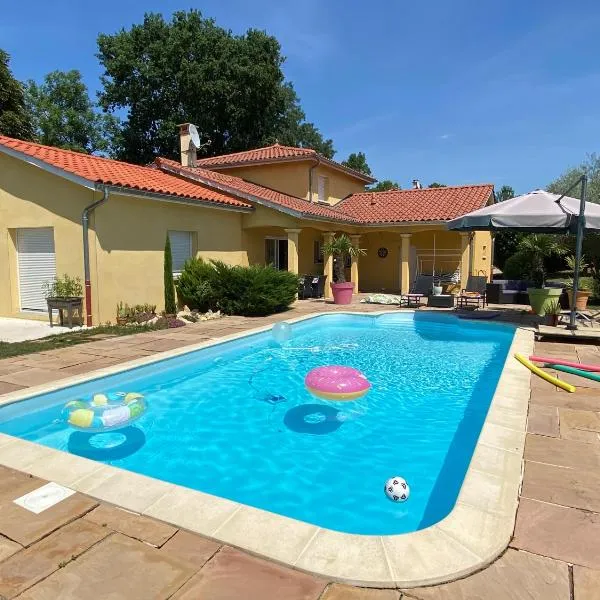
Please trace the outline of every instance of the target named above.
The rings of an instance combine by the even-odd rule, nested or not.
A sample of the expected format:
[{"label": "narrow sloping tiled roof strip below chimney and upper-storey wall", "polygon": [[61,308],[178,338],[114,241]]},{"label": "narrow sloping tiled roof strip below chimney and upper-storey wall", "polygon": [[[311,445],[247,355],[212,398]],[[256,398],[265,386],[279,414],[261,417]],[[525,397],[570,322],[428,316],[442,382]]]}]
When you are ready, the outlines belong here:
[{"label": "narrow sloping tiled roof strip below chimney and upper-storey wall", "polygon": [[283,194],[282,192],[246,181],[241,177],[217,173],[216,171],[210,171],[201,167],[182,167],[178,162],[167,158],[157,158],[155,164],[160,169],[169,173],[176,173],[183,177],[189,177],[204,185],[215,186],[216,189],[226,191],[227,193],[242,194],[242,197],[246,199],[254,199],[258,202],[264,201],[268,204],[275,205],[275,208],[280,207],[297,213],[298,216],[343,221],[346,223],[355,222],[353,217],[345,215],[335,208],[309,202],[308,200],[296,196]]}]

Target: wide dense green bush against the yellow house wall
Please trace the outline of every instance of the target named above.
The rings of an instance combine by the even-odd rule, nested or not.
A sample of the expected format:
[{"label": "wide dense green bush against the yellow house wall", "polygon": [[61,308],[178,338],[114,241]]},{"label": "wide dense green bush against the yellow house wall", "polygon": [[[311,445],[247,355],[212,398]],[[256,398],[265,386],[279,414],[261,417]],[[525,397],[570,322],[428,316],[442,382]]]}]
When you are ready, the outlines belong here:
[{"label": "wide dense green bush against the yellow house wall", "polygon": [[271,266],[240,267],[190,259],[177,281],[177,291],[191,309],[264,316],[289,307],[296,298],[298,277]]}]

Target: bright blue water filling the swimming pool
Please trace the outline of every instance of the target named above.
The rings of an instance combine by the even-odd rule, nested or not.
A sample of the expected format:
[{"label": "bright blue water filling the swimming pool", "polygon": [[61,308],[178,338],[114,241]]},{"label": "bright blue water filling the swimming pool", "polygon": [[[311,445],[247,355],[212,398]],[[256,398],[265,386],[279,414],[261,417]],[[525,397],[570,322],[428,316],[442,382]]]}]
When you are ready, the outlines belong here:
[{"label": "bright blue water filling the swimming pool", "polygon": [[[510,326],[433,313],[325,315],[0,408],[0,431],[244,504],[359,534],[427,527],[454,506],[512,342]],[[304,377],[360,369],[354,402]],[[98,435],[61,419],[71,399],[144,394],[148,412]],[[407,502],[383,492],[391,476]]]}]

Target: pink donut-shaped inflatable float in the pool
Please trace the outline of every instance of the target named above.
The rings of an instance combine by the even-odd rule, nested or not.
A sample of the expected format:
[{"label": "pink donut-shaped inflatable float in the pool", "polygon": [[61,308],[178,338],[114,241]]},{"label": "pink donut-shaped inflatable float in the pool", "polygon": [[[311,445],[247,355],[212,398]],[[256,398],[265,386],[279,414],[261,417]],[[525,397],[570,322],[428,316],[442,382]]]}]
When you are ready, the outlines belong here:
[{"label": "pink donut-shaped inflatable float in the pool", "polygon": [[368,379],[360,371],[339,365],[309,371],[304,385],[311,394],[324,400],[357,400],[371,389]]}]

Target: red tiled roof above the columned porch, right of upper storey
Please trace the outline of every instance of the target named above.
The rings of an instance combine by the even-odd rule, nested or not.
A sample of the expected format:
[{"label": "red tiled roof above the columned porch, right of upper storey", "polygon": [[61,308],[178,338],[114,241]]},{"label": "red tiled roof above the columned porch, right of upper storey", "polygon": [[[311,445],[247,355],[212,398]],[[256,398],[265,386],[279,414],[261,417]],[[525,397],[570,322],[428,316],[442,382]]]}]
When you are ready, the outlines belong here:
[{"label": "red tiled roof above the columned porch, right of upper storey", "polygon": [[486,205],[492,184],[352,194],[336,210],[362,223],[448,221]]}]

